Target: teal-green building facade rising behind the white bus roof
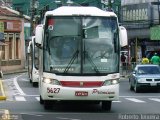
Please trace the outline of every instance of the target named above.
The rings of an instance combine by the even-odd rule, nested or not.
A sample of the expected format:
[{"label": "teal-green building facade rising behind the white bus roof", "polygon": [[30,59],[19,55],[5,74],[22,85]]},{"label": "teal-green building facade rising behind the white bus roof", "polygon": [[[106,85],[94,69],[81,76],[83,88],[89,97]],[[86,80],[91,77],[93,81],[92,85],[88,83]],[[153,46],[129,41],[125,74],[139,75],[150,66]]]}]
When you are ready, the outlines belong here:
[{"label": "teal-green building facade rising behind the white bus roof", "polygon": [[[10,0],[11,1],[11,0]],[[32,15],[32,7],[36,8],[35,14],[38,14],[45,6],[49,5],[49,9],[55,9],[61,5],[66,5],[68,0],[12,0],[13,9],[22,12],[25,15]],[[71,0],[77,6],[96,6],[98,8],[107,8],[109,1],[110,7],[118,14],[121,6],[121,0]]]}]

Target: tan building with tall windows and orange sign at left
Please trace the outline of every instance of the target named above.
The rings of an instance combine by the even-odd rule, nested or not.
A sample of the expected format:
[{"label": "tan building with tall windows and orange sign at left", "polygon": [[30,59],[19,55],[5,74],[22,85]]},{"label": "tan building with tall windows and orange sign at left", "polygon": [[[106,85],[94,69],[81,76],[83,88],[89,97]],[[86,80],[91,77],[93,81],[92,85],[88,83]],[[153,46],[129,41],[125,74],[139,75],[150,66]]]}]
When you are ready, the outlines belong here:
[{"label": "tan building with tall windows and orange sign at left", "polygon": [[0,7],[1,69],[13,71],[25,67],[24,23],[26,19],[7,7]]}]

